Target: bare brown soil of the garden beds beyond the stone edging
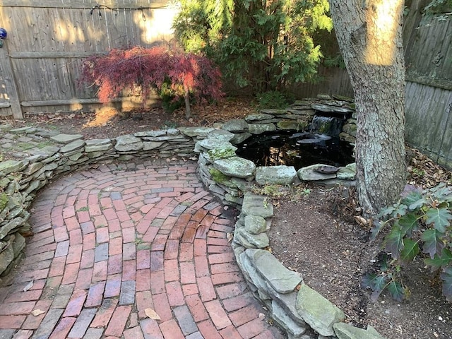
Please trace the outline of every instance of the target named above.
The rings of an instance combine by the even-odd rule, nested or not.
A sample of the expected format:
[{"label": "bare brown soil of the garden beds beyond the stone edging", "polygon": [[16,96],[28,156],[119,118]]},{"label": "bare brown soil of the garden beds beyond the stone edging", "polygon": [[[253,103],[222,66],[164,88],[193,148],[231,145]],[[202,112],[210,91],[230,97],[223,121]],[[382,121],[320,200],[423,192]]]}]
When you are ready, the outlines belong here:
[{"label": "bare brown soil of the garden beds beyond the stone edging", "polygon": [[[97,116],[33,114],[23,121],[0,117],[0,123],[81,133],[86,138],[114,138],[168,127],[211,126],[255,112],[246,99],[198,106],[193,111],[189,121],[182,111],[167,113],[155,108],[122,117],[108,112]],[[408,148],[408,153],[410,184],[452,183],[451,172],[416,150]],[[276,216],[269,232],[270,250],[286,267],[302,273],[304,281],[343,309],[347,321],[355,326],[374,326],[388,339],[452,338],[452,304],[441,295],[439,280],[424,267],[422,258],[404,269],[409,300],[396,302],[383,293],[377,302],[370,301],[370,292],[361,287],[361,280],[380,247],[378,242],[369,242],[368,227],[355,222],[354,216],[359,213],[354,191],[320,186],[300,186],[298,190],[275,200]]]}]

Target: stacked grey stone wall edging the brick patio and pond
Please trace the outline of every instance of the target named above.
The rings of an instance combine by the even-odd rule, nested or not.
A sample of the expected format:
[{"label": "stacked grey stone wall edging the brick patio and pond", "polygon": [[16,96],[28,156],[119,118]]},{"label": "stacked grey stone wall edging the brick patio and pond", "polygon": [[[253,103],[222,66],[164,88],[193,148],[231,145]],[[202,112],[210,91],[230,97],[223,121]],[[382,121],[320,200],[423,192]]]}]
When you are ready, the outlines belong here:
[{"label": "stacked grey stone wall edging the brick patio and pond", "polygon": [[[204,184],[225,205],[241,207],[232,239],[237,263],[254,295],[268,307],[288,338],[383,338],[371,327],[363,330],[343,323],[342,311],[305,285],[299,273],[287,270],[265,250],[273,205],[266,196],[251,193],[251,185],[295,184],[301,180],[301,169],[296,172],[287,166],[256,168],[249,160],[234,155],[237,148],[233,143],[242,142],[240,140],[251,133],[262,133],[269,126],[280,129],[278,122],[287,121],[287,117],[293,115],[289,112],[291,109],[295,110],[292,106],[284,114],[280,110],[266,110],[261,115],[246,117],[248,119],[227,121],[218,128],[185,127],[138,132],[114,139],[84,140],[81,135],[0,125],[3,133],[0,143],[8,155],[8,160],[0,163],[0,276],[5,277],[23,256],[24,237],[32,234],[28,208],[37,191],[50,180],[100,162],[150,157],[193,158],[198,153],[198,172]],[[309,112],[309,109],[306,110]],[[284,117],[278,119],[278,116]],[[316,172],[326,177],[315,180],[352,182],[352,177],[341,178],[340,170],[333,174]],[[316,305],[321,305],[321,309]],[[309,334],[312,330],[319,336]]]}]

